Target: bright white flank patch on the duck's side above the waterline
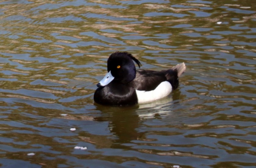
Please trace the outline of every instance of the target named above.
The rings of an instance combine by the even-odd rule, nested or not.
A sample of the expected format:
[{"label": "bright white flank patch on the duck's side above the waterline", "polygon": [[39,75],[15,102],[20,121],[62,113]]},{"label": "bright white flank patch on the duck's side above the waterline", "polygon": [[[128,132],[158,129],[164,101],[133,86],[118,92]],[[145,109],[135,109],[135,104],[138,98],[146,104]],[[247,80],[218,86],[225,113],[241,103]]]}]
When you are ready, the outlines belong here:
[{"label": "bright white flank patch on the duck's side above the waterline", "polygon": [[143,90],[136,90],[138,103],[147,103],[152,102],[157,99],[161,99],[172,92],[172,85],[168,82],[160,83],[155,90],[151,91],[143,91]]}]

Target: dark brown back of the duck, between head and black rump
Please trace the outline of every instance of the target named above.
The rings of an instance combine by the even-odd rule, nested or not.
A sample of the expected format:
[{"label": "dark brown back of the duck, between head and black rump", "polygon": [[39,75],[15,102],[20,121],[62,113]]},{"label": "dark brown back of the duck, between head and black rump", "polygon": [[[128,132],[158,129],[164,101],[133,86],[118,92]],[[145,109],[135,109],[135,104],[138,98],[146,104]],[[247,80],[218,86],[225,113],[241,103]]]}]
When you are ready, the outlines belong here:
[{"label": "dark brown back of the duck, between head and black rump", "polygon": [[151,71],[139,69],[136,72],[136,78],[129,83],[130,87],[136,90],[151,91],[154,90],[161,82],[166,81],[163,71]]}]

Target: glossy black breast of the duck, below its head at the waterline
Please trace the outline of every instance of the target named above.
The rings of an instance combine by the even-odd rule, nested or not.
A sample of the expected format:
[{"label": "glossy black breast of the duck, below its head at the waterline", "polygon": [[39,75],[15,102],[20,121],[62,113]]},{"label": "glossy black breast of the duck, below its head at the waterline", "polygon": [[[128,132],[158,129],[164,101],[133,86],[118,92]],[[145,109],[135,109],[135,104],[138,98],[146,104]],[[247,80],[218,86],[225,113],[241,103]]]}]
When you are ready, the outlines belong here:
[{"label": "glossy black breast of the duck, below its head at the waterline", "polygon": [[138,103],[135,89],[116,81],[98,87],[94,93],[94,101],[108,106],[129,106]]}]

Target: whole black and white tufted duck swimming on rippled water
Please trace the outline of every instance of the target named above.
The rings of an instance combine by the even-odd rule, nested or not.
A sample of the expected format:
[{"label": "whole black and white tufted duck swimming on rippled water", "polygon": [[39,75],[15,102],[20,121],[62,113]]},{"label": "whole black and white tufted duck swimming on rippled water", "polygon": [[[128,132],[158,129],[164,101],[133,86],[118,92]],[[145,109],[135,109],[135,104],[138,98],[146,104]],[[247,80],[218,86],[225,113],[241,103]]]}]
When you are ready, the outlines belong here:
[{"label": "whole black and white tufted duck swimming on rippled water", "polygon": [[139,69],[141,63],[128,52],[114,52],[107,61],[108,72],[97,84],[94,102],[109,106],[128,106],[152,102],[169,95],[179,85],[185,71],[183,63],[171,69],[152,71]]}]

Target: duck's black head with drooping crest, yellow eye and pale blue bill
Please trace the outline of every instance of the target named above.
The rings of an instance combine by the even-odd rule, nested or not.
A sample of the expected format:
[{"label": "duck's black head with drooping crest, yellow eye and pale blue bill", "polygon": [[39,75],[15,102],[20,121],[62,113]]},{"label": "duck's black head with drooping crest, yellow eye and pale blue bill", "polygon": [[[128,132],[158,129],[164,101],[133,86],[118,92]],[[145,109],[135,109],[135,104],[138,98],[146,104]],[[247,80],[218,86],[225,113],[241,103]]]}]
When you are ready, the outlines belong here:
[{"label": "duck's black head with drooping crest, yellow eye and pale blue bill", "polygon": [[105,86],[112,80],[128,83],[136,77],[136,68],[134,62],[140,67],[141,63],[128,52],[114,52],[108,58],[108,73],[97,84]]}]

